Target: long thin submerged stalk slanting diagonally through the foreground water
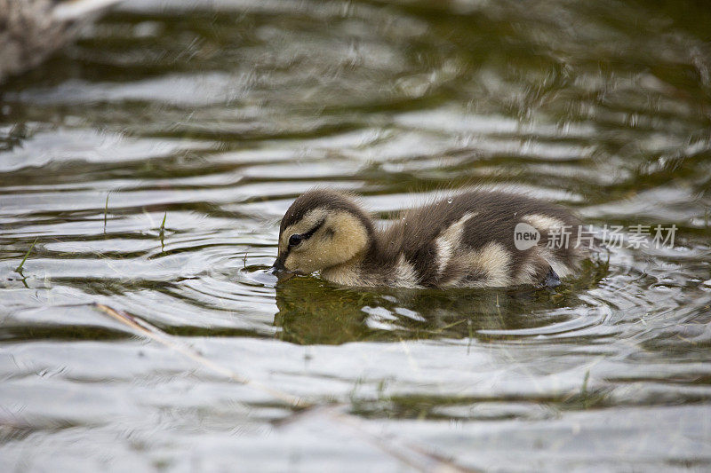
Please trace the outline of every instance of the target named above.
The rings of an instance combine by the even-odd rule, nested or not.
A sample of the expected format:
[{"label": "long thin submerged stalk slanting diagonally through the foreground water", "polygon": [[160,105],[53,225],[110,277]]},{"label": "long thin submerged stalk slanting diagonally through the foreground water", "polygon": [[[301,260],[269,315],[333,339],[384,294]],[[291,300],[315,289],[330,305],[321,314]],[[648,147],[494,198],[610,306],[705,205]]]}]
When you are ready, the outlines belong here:
[{"label": "long thin submerged stalk slanting diagonally through the foreground water", "polygon": [[300,417],[300,415],[308,415],[306,413],[325,413],[328,419],[333,422],[338,422],[340,425],[348,426],[351,430],[357,432],[369,444],[378,447],[383,453],[387,453],[387,455],[395,458],[395,460],[400,461],[413,469],[443,473],[475,473],[476,471],[475,469],[461,467],[454,461],[451,461],[451,459],[443,457],[438,453],[433,453],[429,448],[420,445],[412,445],[409,442],[406,443],[400,438],[386,437],[384,435],[374,433],[367,429],[361,419],[345,412],[343,405],[319,406],[283,391],[270,388],[261,382],[252,381],[241,374],[237,374],[228,367],[222,367],[214,361],[206,359],[199,351],[196,351],[194,348],[184,343],[180,343],[175,340],[175,337],[172,335],[166,334],[160,328],[154,327],[145,320],[135,317],[126,311],[117,311],[116,309],[113,309],[105,304],[94,303],[92,305],[99,311],[107,314],[112,319],[116,319],[124,325],[131,327],[133,330],[140,333],[140,335],[144,335],[157,343],[161,343],[171,350],[180,352],[180,354],[196,361],[198,364],[206,368],[209,368],[213,372],[221,374],[234,382],[238,382],[245,386],[250,386],[254,389],[268,393],[269,395],[281,399],[286,404],[300,410],[300,412],[294,414],[291,419],[279,422],[280,424],[294,422]]}]

